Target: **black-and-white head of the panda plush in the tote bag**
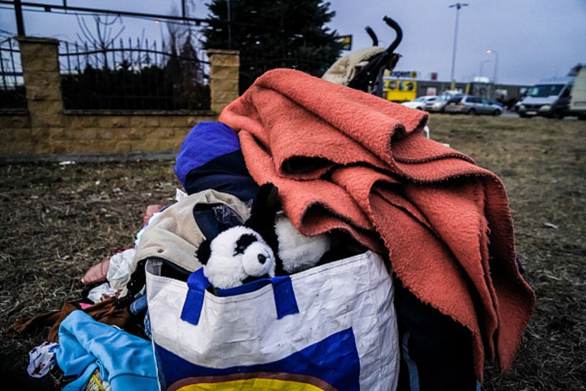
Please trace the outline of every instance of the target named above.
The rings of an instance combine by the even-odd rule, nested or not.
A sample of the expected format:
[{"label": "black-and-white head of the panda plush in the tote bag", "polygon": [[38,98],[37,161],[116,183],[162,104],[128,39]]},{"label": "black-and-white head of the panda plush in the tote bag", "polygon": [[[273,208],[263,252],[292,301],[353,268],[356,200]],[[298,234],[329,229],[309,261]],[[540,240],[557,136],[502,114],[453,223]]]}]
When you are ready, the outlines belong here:
[{"label": "black-and-white head of the panda plush in the tote bag", "polygon": [[214,288],[233,288],[258,278],[275,276],[275,256],[255,230],[235,226],[204,240],[197,249],[203,274]]}]

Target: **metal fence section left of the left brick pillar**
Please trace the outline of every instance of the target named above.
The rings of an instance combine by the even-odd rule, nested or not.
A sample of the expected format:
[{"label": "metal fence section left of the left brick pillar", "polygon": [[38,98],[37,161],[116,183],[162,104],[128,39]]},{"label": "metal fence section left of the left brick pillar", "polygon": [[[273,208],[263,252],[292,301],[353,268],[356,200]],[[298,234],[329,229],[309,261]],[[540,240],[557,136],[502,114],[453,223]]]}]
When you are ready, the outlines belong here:
[{"label": "metal fence section left of the left brick pillar", "polygon": [[0,42],[0,74],[0,108],[26,108],[21,55],[15,39]]}]

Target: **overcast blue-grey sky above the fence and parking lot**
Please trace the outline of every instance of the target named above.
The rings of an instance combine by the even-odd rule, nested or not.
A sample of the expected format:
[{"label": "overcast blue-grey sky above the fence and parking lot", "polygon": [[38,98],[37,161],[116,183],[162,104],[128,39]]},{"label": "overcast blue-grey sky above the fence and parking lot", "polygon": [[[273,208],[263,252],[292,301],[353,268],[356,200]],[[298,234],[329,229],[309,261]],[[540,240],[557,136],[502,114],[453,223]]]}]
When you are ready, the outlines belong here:
[{"label": "overcast blue-grey sky above the fence and parking lot", "polygon": [[[29,0],[63,4],[61,0]],[[206,0],[195,0],[190,16],[205,18]],[[403,29],[397,52],[403,57],[396,70],[416,70],[421,79],[431,72],[449,80],[454,45],[455,1],[444,0],[332,0],[336,12],[329,26],[340,35],[353,35],[352,49],[370,46],[364,27],[370,25],[380,45],[386,46],[394,33],[382,21],[387,15]],[[467,1],[459,13],[455,78],[470,81],[481,72],[493,77],[498,52],[497,80],[505,84],[533,84],[545,77],[563,76],[577,63],[586,63],[586,0],[484,0]],[[67,0],[70,6],[122,9],[124,11],[170,13],[180,0]],[[0,29],[16,32],[11,6],[0,5]],[[25,11],[27,35],[77,40],[79,32],[72,15]],[[90,22],[90,18],[86,18]],[[124,18],[122,36],[134,40],[144,29],[149,39],[160,41],[164,26],[152,21]],[[5,35],[5,34],[4,34]],[[485,61],[488,60],[488,61]]]}]

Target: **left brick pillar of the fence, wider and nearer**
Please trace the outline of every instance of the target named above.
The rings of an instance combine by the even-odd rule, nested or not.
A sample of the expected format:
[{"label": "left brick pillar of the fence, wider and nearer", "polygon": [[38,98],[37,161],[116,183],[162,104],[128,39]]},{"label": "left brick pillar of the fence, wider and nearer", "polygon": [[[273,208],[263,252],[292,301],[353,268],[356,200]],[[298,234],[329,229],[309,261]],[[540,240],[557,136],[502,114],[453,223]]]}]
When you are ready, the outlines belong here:
[{"label": "left brick pillar of the fence, wider and nearer", "polygon": [[59,41],[28,36],[19,36],[16,40],[21,51],[30,127],[33,135],[42,137],[43,130],[63,125],[63,97],[57,51]]}]

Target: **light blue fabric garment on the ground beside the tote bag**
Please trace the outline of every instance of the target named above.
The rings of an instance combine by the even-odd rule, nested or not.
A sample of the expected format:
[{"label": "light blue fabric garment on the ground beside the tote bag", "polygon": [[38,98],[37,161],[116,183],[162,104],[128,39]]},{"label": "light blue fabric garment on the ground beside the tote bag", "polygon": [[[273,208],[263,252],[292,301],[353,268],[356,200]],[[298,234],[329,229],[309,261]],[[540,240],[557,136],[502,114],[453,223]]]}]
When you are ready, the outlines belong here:
[{"label": "light blue fabric garment on the ground beside the tote bag", "polygon": [[60,325],[56,358],[66,376],[78,377],[66,391],[84,390],[96,368],[114,391],[159,389],[151,342],[83,311],[71,312]]}]

